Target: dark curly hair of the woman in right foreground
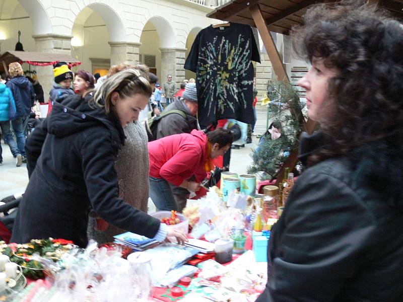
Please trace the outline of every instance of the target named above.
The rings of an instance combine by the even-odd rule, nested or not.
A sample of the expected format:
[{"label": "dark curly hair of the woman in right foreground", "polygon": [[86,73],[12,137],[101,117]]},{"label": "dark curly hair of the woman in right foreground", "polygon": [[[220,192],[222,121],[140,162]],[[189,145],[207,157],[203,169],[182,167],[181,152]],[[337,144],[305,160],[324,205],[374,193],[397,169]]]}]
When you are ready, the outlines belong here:
[{"label": "dark curly hair of the woman in right foreground", "polygon": [[332,114],[321,128],[331,140],[310,165],[375,141],[403,153],[403,26],[364,0],[316,5],[292,30],[296,53],[338,70],[329,80]]}]

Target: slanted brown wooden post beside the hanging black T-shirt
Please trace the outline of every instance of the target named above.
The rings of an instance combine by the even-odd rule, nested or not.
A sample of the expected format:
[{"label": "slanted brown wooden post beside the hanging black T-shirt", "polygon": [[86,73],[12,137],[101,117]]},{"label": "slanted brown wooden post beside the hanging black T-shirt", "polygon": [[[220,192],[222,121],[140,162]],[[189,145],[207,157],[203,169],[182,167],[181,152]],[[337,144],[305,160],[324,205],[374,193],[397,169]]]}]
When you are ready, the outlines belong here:
[{"label": "slanted brown wooden post beside the hanging black T-shirt", "polygon": [[279,81],[289,80],[287,77],[286,69],[284,68],[283,62],[280,58],[279,52],[277,51],[273,38],[270,35],[270,31],[268,31],[266,23],[263,19],[259,5],[255,4],[254,6],[251,6],[249,10],[252,15],[253,21],[255,22],[257,30],[259,31],[260,37],[263,40],[263,44],[264,47],[266,48],[268,57],[272,62],[272,66],[277,79]]}]

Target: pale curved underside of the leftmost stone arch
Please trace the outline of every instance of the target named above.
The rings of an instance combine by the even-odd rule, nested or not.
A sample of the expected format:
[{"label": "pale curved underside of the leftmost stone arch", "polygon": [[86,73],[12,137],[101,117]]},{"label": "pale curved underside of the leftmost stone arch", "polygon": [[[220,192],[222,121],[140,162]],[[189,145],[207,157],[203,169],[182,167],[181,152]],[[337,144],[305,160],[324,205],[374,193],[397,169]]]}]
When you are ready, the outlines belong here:
[{"label": "pale curved underside of the leftmost stone arch", "polygon": [[18,0],[31,19],[34,35],[52,33],[50,18],[39,0]]}]

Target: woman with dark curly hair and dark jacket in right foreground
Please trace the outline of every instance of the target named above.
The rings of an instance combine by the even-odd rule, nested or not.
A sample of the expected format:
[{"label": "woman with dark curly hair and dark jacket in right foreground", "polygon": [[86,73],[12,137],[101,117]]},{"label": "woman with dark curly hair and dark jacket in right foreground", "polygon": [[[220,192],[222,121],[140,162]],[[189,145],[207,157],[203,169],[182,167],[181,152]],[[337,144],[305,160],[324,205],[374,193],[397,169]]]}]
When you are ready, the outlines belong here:
[{"label": "woman with dark curly hair and dark jacket in right foreground", "polygon": [[309,9],[293,29],[321,130],[268,248],[265,301],[403,301],[403,26],[364,1]]}]

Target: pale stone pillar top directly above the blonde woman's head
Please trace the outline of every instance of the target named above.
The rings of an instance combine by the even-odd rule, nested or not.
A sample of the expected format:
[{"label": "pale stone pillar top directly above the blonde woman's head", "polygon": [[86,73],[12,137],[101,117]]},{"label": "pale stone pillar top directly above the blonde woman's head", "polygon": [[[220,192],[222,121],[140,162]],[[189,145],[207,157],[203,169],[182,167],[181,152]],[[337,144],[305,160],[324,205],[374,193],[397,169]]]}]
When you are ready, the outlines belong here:
[{"label": "pale stone pillar top directly above the blonde woman's head", "polygon": [[117,65],[124,61],[139,63],[139,47],[135,42],[108,42],[110,45],[110,64]]}]

